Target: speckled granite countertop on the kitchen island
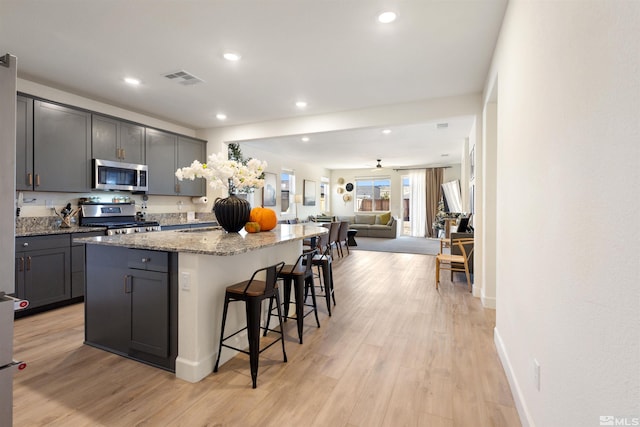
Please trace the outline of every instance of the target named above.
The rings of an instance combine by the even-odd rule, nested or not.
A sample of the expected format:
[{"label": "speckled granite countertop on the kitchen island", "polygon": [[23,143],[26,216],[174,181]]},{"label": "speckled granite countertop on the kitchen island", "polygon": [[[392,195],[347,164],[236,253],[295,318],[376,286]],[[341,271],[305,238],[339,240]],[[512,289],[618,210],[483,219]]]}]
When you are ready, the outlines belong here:
[{"label": "speckled granite countertop on the kitchen island", "polygon": [[124,246],[166,252],[188,252],[205,255],[237,255],[276,246],[293,240],[327,233],[325,227],[308,224],[281,224],[260,233],[226,233],[222,230],[191,229],[117,236],[80,237],[74,241],[96,245]]}]

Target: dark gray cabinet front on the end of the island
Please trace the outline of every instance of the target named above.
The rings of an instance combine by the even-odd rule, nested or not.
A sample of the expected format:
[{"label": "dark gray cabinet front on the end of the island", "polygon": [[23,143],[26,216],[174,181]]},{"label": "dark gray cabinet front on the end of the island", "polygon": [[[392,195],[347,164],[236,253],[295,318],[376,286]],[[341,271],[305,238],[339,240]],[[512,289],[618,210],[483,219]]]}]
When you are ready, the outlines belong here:
[{"label": "dark gray cabinet front on the end of the island", "polygon": [[177,254],[87,245],[85,343],[175,371]]}]

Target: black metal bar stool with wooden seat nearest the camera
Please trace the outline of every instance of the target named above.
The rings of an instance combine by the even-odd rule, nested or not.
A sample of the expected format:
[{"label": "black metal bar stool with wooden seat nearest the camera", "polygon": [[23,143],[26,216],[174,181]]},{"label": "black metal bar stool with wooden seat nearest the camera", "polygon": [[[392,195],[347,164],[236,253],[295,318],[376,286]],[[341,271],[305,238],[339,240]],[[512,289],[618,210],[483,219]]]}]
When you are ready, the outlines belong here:
[{"label": "black metal bar stool with wooden seat nearest the camera", "polygon": [[[287,361],[287,353],[284,349],[284,331],[282,329],[283,317],[282,312],[280,311],[280,292],[276,283],[278,280],[278,275],[283,267],[284,261],[279,262],[275,265],[271,265],[269,267],[261,268],[253,273],[251,279],[227,287],[224,295],[224,311],[222,313],[222,327],[220,329],[220,345],[218,347],[218,358],[216,359],[216,365],[213,368],[213,372],[218,372],[218,364],[220,363],[220,352],[222,351],[222,347],[227,347],[232,350],[236,350],[249,355],[249,365],[251,366],[251,380],[253,382],[253,388],[256,388],[258,379],[258,357],[260,356],[260,353],[262,353],[264,350],[271,347],[278,341],[281,341],[282,355],[284,356],[284,361]],[[266,272],[266,280],[257,280],[256,275],[263,271]],[[276,300],[278,321],[280,323],[279,331],[275,329],[269,329],[268,323],[264,328],[260,326],[260,312],[262,311],[262,301],[267,298],[269,298],[269,307],[271,307],[271,303],[273,302],[273,300]],[[245,310],[247,313],[247,326],[225,337],[224,326],[227,322],[227,309],[230,302],[237,301],[244,301],[245,303]],[[234,337],[245,329],[247,331],[247,337],[249,339],[249,351],[239,349],[224,343],[226,340]],[[264,348],[260,349],[260,329],[264,329],[264,336],[267,335],[268,331],[271,331],[279,333],[280,337]]]}]

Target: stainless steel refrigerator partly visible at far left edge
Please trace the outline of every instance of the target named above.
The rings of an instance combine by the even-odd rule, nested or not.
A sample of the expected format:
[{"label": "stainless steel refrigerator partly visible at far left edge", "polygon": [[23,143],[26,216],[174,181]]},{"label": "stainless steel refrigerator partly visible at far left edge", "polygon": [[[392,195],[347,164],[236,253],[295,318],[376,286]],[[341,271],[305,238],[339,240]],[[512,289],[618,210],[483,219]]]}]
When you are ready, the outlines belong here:
[{"label": "stainless steel refrigerator partly visible at far left edge", "polygon": [[13,423],[15,301],[16,58],[0,57],[0,425]]}]

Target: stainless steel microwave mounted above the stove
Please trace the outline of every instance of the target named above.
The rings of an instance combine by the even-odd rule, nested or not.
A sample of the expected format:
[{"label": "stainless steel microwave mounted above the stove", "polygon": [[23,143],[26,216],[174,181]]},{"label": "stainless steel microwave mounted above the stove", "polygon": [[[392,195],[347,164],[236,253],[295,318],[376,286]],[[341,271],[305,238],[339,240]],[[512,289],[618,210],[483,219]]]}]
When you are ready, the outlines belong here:
[{"label": "stainless steel microwave mounted above the stove", "polygon": [[93,188],[96,190],[148,191],[147,165],[93,159]]}]

